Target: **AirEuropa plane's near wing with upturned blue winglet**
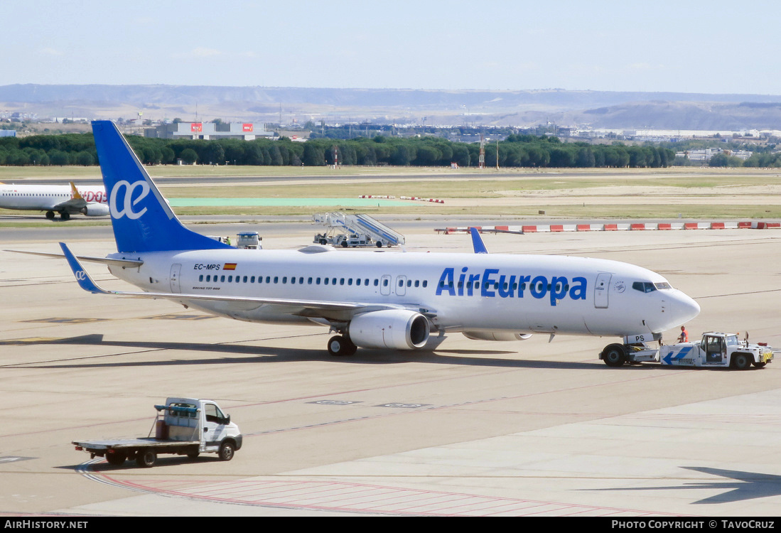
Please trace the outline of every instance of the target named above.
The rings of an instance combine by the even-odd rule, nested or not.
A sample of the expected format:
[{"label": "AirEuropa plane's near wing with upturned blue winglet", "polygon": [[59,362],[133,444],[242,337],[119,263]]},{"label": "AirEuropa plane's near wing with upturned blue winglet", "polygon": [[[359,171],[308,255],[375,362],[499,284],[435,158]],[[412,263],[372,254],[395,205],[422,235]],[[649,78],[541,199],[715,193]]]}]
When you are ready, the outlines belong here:
[{"label": "AirEuropa plane's near wing with upturned blue winglet", "polygon": [[[79,286],[87,292],[93,294],[105,294],[105,295],[119,295],[129,296],[131,298],[148,298],[148,299],[172,299],[177,301],[190,301],[190,302],[225,302],[228,304],[235,304],[241,306],[242,309],[255,309],[264,305],[280,306],[285,309],[290,309],[291,314],[300,315],[303,317],[312,318],[325,318],[326,320],[345,320],[347,317],[351,317],[357,313],[363,313],[366,311],[376,311],[380,309],[407,309],[408,306],[395,306],[376,303],[362,303],[362,302],[328,302],[320,300],[302,300],[302,299],[284,299],[284,298],[252,298],[247,296],[212,296],[212,295],[194,295],[180,292],[123,292],[123,291],[107,291],[104,288],[98,286],[95,281],[92,280],[81,263],[73,255],[73,252],[63,242],[59,243],[62,248],[62,252],[65,253],[65,258],[73,270],[73,275],[76,277],[76,281]],[[415,309],[419,310],[419,309]],[[426,311],[426,314],[433,316],[433,313]]]}]

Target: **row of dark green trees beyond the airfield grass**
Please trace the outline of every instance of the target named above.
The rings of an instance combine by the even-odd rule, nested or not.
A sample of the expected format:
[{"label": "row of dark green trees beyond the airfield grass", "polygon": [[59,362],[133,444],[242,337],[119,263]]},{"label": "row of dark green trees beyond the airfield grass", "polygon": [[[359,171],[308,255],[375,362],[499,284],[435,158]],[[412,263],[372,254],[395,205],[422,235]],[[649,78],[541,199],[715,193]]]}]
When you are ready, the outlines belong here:
[{"label": "row of dark green trees beyond the airfield grass", "polygon": [[[324,166],[478,166],[479,143],[443,138],[310,139],[287,138],[170,140],[129,136],[128,142],[144,164],[183,163],[231,165]],[[663,167],[672,164],[674,152],[659,146],[589,145],[562,143],[555,137],[510,134],[505,141],[485,146],[485,165],[526,167]],[[36,135],[0,138],[2,165],[95,165],[98,154],[91,134]]]}]

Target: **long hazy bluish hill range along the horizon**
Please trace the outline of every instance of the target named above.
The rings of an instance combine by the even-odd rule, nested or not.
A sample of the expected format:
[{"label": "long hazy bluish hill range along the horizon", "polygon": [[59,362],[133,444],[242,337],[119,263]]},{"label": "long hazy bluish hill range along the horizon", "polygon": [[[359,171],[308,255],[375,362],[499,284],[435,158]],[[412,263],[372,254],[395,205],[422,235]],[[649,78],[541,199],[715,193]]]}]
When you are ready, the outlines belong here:
[{"label": "long hazy bluish hill range along the horizon", "polygon": [[781,95],[185,85],[0,86],[0,109],[87,118],[781,129]]}]

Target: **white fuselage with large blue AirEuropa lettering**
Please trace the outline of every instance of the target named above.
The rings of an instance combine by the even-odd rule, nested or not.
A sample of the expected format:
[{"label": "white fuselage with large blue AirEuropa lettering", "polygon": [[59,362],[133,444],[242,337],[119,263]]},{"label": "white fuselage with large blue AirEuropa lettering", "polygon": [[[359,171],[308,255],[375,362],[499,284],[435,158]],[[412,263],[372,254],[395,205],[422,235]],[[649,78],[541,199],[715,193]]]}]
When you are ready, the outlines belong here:
[{"label": "white fuselage with large blue AirEuropa lettering", "polygon": [[[623,336],[665,331],[699,312],[659,274],[605,259],[305,250],[116,253],[110,257],[144,264],[109,270],[149,292],[399,306],[426,313],[444,331]],[[177,301],[238,320],[312,324],[291,306]],[[349,320],[340,313],[329,320]]]}]

